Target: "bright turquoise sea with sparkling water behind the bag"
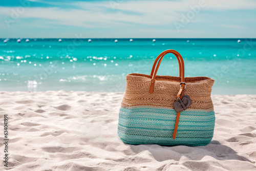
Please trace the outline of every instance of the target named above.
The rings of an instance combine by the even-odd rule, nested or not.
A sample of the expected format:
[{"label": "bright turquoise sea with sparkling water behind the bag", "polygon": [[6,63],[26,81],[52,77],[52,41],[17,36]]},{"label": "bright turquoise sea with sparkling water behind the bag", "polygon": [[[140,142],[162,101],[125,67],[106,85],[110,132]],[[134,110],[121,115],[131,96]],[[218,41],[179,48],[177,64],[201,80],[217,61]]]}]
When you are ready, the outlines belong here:
[{"label": "bright turquoise sea with sparkling water behind the bag", "polygon": [[[185,77],[215,79],[212,94],[256,94],[256,39],[0,39],[0,91],[125,91],[125,75],[150,75],[167,49],[184,59]],[[173,54],[157,75],[179,75]]]}]

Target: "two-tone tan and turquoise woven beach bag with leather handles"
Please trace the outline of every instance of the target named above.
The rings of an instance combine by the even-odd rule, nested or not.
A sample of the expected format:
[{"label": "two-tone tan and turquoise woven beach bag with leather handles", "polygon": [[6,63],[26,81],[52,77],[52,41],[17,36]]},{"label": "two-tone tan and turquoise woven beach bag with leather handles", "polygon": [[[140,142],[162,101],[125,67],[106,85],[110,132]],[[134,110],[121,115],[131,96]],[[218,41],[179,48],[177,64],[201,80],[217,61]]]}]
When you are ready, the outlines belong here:
[{"label": "two-tone tan and turquoise woven beach bag with leather handles", "polygon": [[[179,62],[179,77],[156,75],[167,53]],[[215,127],[211,88],[214,79],[184,77],[183,58],[175,50],[158,55],[151,75],[127,74],[118,118],[118,136],[127,144],[207,145]]]}]

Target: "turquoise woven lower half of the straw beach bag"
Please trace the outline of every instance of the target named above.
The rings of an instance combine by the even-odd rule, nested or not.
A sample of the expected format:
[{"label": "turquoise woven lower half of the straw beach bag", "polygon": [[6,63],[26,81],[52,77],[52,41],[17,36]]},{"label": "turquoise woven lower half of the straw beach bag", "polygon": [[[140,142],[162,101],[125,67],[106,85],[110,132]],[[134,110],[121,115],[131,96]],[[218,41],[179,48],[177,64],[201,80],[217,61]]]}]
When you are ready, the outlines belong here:
[{"label": "turquoise woven lower half of the straw beach bag", "polygon": [[186,110],[180,114],[176,139],[173,131],[177,112],[155,106],[120,108],[118,135],[124,143],[159,145],[207,145],[214,134],[215,112]]}]

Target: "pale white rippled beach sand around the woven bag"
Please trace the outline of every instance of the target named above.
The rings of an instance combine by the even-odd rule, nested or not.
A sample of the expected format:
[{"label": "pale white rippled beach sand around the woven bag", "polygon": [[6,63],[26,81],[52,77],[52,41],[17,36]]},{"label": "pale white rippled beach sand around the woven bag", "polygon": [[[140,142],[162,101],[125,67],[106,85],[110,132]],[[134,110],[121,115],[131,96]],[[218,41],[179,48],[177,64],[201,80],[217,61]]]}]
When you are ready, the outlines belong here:
[{"label": "pale white rippled beach sand around the woven bag", "polygon": [[[0,95],[11,170],[256,170],[256,95],[212,96],[214,138],[197,147],[124,144],[117,135],[123,93]],[[3,143],[0,151],[2,158]]]}]

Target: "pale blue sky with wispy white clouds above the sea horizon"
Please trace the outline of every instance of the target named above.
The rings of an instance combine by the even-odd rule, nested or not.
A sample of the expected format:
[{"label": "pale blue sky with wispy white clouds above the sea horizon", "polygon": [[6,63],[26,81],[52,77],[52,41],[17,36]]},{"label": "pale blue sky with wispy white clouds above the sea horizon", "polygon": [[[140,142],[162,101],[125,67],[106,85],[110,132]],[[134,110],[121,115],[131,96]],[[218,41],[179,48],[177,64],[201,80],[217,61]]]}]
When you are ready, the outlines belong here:
[{"label": "pale blue sky with wispy white clouds above the sea horizon", "polygon": [[256,1],[1,0],[3,38],[256,38]]}]

